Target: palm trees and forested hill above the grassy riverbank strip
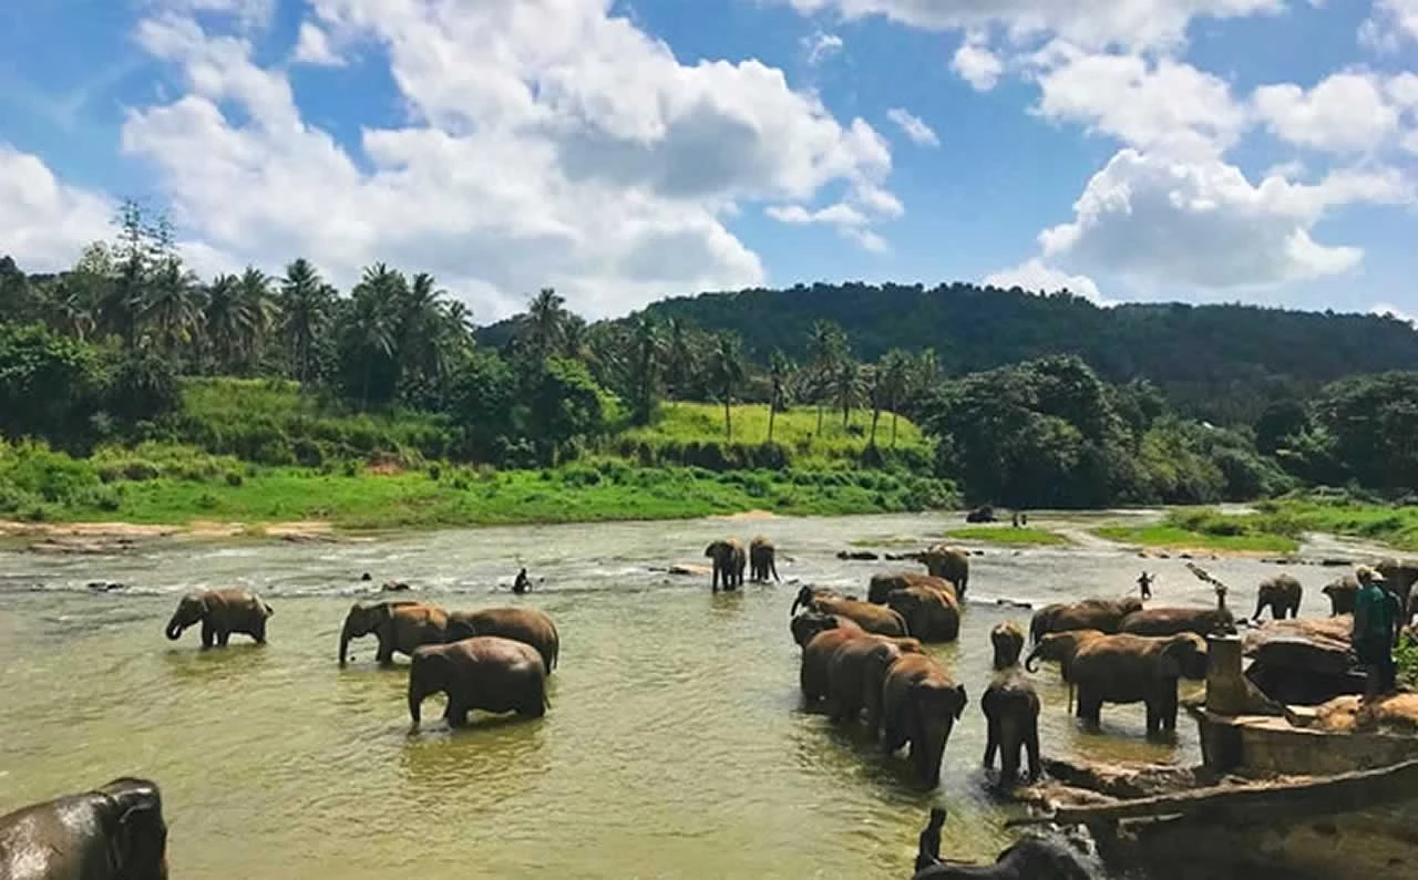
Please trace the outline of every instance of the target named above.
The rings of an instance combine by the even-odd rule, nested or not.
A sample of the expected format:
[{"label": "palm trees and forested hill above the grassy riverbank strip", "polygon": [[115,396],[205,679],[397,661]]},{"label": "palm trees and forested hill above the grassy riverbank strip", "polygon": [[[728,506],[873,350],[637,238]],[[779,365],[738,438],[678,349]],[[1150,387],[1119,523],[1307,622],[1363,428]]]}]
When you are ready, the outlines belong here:
[{"label": "palm trees and forested hill above the grassy riverbank strip", "polygon": [[[1031,507],[1418,486],[1418,333],[1394,319],[970,285],[702,295],[607,322],[543,289],[512,320],[471,319],[432,276],[386,265],[347,292],[305,259],[200,279],[169,224],[128,204],[115,241],[69,271],[0,259],[0,432],[78,456],[169,444],[284,468],[845,466]],[[200,377],[306,402],[214,419],[184,402]],[[722,421],[651,442],[666,401]],[[744,428],[744,407],[766,422]],[[791,439],[774,434],[787,414],[805,418]],[[942,502],[927,483],[912,503]]]}]

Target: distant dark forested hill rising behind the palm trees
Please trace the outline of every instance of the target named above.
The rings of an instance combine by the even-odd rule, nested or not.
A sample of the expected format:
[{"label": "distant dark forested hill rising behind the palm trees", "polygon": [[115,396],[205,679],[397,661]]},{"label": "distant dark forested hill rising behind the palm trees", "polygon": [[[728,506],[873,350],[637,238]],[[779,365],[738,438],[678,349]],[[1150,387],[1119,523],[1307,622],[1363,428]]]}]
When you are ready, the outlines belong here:
[{"label": "distant dark forested hill rising behind the palm trees", "polygon": [[[1390,317],[1241,305],[1103,309],[1079,296],[967,283],[702,293],[665,299],[647,312],[732,330],[760,364],[776,349],[803,360],[810,346],[803,329],[815,320],[842,326],[864,361],[891,349],[934,349],[946,376],[1076,354],[1107,381],[1147,378],[1181,412],[1222,424],[1255,422],[1276,400],[1303,400],[1356,373],[1418,370],[1418,333]],[[499,344],[512,332],[513,322],[502,322],[478,334]]]}]

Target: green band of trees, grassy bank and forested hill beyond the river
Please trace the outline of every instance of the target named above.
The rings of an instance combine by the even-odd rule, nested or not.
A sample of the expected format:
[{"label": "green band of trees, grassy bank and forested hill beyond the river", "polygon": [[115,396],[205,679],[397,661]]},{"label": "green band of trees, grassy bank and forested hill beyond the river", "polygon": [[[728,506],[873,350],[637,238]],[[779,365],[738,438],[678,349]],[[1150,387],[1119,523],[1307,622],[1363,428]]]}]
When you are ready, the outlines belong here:
[{"label": "green band of trees, grassy bank and forested hill beyond the river", "polygon": [[[135,204],[121,220],[58,275],[0,259],[0,517],[379,526],[1290,496],[1117,537],[1412,541],[1391,502],[1418,485],[1418,333],[1391,317],[845,285],[588,323],[546,289],[474,332],[425,273],[374,265],[347,293],[303,259],[199,279],[164,221]],[[1347,495],[1295,500],[1316,486]]]}]

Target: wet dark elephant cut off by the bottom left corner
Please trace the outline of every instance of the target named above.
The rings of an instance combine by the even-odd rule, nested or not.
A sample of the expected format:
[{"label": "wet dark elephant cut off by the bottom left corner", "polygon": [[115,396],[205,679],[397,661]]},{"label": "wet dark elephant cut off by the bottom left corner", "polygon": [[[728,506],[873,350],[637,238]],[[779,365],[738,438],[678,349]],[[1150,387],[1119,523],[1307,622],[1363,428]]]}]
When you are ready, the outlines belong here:
[{"label": "wet dark elephant cut off by the bottom left corner", "polygon": [[162,791],[122,777],[0,816],[0,877],[167,880]]}]

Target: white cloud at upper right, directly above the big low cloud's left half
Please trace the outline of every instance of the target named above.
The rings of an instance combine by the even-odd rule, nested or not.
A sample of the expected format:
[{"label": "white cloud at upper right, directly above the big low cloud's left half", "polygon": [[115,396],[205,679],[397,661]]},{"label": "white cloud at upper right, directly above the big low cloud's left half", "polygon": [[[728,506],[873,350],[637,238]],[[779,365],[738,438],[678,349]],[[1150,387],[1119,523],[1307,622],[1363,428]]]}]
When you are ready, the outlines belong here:
[{"label": "white cloud at upper right, directly above the big low cloud's left half", "polygon": [[1197,68],[1161,58],[1095,55],[1055,43],[1041,54],[1038,115],[1076,122],[1150,153],[1205,157],[1225,152],[1246,128],[1231,88]]}]

